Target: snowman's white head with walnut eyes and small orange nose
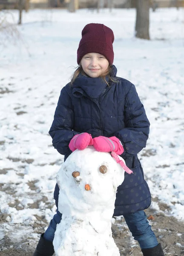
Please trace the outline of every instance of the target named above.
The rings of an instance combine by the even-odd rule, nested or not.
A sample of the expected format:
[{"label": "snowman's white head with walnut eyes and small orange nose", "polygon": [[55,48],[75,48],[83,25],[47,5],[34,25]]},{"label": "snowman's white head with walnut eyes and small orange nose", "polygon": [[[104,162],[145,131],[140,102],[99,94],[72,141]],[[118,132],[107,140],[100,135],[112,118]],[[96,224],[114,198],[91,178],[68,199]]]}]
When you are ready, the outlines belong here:
[{"label": "snowman's white head with walnut eyes and small orange nose", "polygon": [[114,205],[117,187],[123,181],[124,169],[109,153],[98,152],[93,146],[75,150],[57,175],[59,210],[70,207],[89,211]]}]

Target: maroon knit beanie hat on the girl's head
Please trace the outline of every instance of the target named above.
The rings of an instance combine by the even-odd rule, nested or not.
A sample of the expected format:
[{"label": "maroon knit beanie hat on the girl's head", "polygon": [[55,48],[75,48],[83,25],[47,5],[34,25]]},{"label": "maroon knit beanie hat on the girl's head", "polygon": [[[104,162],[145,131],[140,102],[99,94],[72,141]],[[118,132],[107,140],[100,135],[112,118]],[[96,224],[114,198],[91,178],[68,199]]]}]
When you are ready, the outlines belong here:
[{"label": "maroon knit beanie hat on the girl's head", "polygon": [[97,52],[106,57],[109,64],[113,63],[114,52],[112,43],[114,42],[114,34],[112,29],[98,23],[89,23],[82,30],[82,38],[77,51],[77,62],[90,52]]}]

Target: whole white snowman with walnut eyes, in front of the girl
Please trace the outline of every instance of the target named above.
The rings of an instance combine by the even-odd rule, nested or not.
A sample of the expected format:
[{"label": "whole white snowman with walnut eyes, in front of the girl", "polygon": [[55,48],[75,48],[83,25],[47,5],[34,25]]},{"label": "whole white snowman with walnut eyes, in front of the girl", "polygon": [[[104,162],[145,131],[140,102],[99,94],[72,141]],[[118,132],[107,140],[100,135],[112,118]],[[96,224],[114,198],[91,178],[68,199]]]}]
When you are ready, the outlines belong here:
[{"label": "whole white snowman with walnut eyes, in front of the girl", "polygon": [[56,179],[62,213],[53,241],[56,256],[120,256],[111,218],[117,187],[124,181],[122,166],[110,153],[89,146],[75,150]]}]

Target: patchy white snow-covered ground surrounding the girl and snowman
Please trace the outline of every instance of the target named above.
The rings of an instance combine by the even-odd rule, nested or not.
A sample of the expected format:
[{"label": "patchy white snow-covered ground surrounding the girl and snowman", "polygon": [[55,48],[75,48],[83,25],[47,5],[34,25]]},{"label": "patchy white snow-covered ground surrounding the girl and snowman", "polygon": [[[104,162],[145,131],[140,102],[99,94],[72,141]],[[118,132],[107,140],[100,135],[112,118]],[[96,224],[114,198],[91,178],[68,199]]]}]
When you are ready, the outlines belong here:
[{"label": "patchy white snow-covered ground surrounding the girl and snowman", "polygon": [[[18,12],[7,18],[17,22]],[[37,221],[49,222],[55,212],[63,156],[48,131],[91,22],[114,31],[118,76],[135,84],[150,119],[139,157],[152,196],[170,207],[167,215],[184,220],[184,9],[150,10],[151,41],[134,38],[134,9],[31,10],[16,26],[19,39],[0,33],[0,240],[7,232],[12,240],[36,238]],[[156,202],[152,207],[159,210]]]}]

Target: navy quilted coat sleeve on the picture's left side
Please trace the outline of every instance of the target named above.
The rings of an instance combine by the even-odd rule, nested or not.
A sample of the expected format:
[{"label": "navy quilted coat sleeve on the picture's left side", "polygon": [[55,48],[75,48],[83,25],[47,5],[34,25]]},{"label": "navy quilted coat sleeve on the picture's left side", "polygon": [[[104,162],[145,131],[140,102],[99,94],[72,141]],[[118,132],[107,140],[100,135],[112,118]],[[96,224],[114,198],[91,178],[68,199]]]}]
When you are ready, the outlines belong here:
[{"label": "navy quilted coat sleeve on the picture's left side", "polygon": [[79,134],[73,131],[74,111],[72,109],[71,98],[63,87],[55,110],[54,121],[49,130],[52,137],[52,144],[60,154],[69,156],[72,153],[69,149],[69,142],[74,135]]}]

